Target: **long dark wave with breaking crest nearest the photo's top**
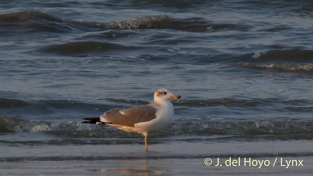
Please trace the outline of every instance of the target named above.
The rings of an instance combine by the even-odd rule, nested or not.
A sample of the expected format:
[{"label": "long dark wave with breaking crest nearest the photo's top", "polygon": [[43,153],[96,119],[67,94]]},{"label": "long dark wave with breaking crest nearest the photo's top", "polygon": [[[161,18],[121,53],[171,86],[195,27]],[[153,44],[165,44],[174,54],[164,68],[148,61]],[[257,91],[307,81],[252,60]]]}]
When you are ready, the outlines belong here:
[{"label": "long dark wave with breaking crest nearest the photo's top", "polygon": [[[246,30],[237,24],[210,24],[200,17],[175,19],[167,15],[134,17],[120,22],[84,22],[59,18],[45,13],[28,11],[0,15],[3,27],[22,28],[26,31],[76,32],[102,29],[175,29],[190,32],[212,32],[215,30]],[[27,23],[27,25],[25,25]],[[9,32],[9,30],[7,31]]]}]

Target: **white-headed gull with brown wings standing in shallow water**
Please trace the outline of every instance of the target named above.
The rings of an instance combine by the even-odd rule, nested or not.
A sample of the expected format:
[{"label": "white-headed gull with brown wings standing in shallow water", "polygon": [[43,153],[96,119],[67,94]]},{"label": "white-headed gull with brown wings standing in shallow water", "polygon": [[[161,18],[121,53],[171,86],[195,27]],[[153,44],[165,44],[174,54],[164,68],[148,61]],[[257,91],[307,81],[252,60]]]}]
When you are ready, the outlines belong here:
[{"label": "white-headed gull with brown wings standing in shallow water", "polygon": [[166,88],[158,88],[154,102],[129,109],[114,108],[100,117],[84,118],[83,123],[105,124],[125,132],[138,132],[145,136],[145,149],[148,151],[148,132],[155,132],[168,126],[174,116],[174,107],[170,99],[181,98]]}]

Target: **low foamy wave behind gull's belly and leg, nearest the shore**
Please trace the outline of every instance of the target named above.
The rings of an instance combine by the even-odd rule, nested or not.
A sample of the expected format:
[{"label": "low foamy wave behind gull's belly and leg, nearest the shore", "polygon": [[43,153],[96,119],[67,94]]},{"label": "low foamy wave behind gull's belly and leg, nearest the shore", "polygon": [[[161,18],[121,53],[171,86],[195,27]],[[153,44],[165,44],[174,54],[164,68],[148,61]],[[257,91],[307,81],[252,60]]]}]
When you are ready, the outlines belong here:
[{"label": "low foamy wave behind gull's belly and leg, nearest the shore", "polygon": [[[93,138],[137,138],[141,136],[105,125],[83,124],[82,121],[53,122],[0,117],[0,124],[0,132],[49,132],[55,135]],[[313,139],[313,121],[216,121],[208,119],[206,121],[173,122],[165,130],[151,133],[150,137],[181,134],[252,136],[288,134],[293,138]]]}]

